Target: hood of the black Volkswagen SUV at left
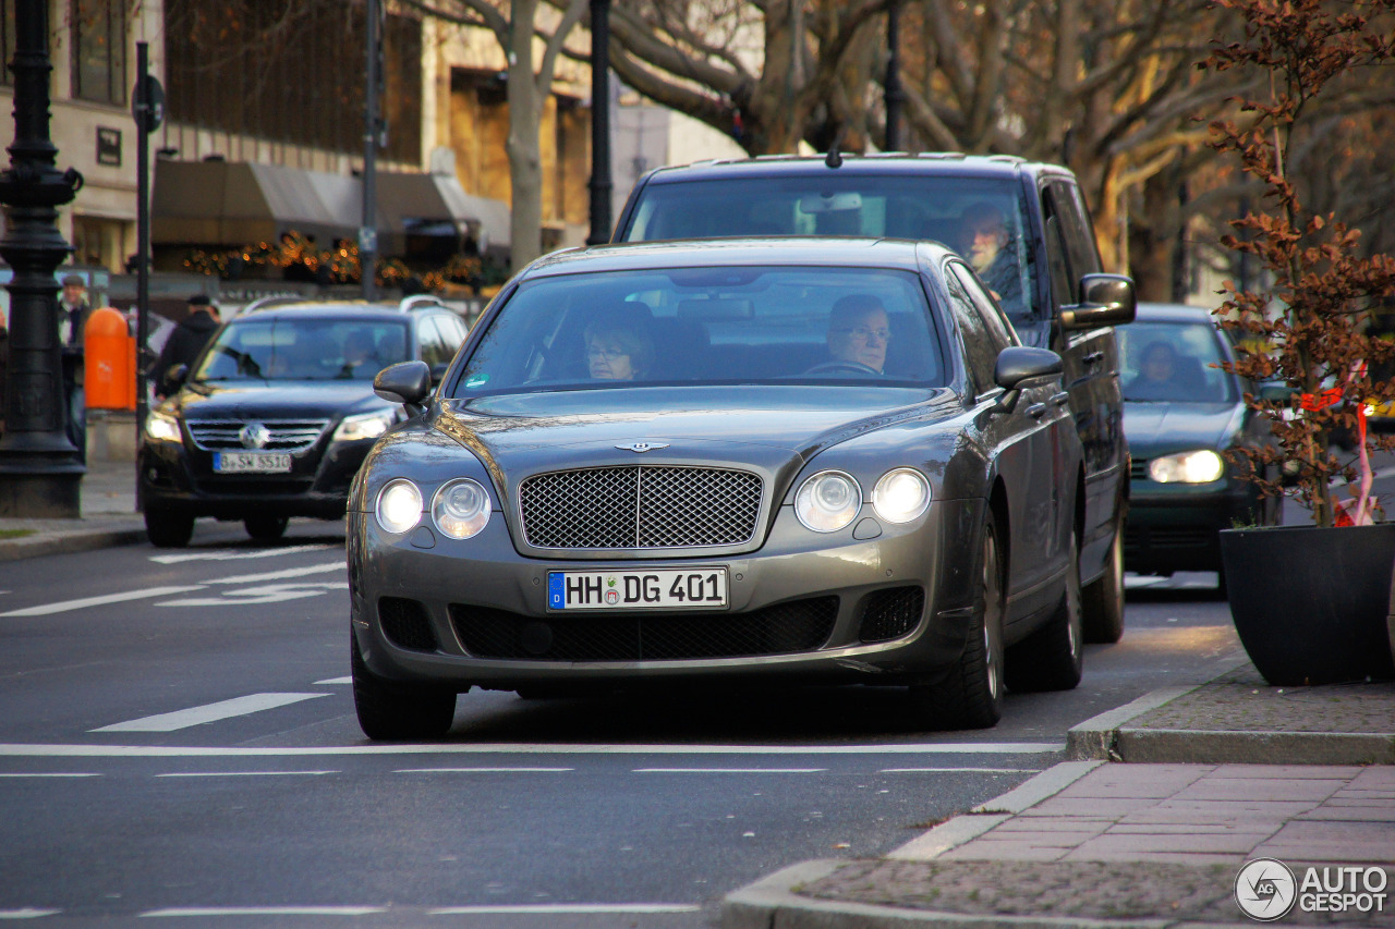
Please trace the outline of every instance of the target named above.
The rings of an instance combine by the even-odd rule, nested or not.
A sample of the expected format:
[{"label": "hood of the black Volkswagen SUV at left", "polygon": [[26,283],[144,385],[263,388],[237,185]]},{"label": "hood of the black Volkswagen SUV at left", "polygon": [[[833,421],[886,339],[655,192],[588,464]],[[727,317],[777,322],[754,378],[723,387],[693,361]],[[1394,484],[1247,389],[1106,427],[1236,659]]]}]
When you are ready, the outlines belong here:
[{"label": "hood of the black Volkswagen SUV at left", "polygon": [[332,420],[385,406],[371,381],[213,381],[191,384],[174,399],[176,411],[194,420]]}]

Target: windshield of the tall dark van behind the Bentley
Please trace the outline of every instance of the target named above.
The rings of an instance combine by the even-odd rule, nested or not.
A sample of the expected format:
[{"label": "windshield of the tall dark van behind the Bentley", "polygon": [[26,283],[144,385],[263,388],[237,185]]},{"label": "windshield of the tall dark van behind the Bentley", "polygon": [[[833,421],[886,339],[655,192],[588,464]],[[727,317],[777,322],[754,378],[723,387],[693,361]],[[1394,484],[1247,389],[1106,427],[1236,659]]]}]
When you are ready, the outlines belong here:
[{"label": "windshield of the tall dark van behind the Bentley", "polygon": [[933,239],[974,265],[1014,319],[1032,315],[1035,257],[1013,181],[887,174],[649,184],[625,241],[730,236]]}]

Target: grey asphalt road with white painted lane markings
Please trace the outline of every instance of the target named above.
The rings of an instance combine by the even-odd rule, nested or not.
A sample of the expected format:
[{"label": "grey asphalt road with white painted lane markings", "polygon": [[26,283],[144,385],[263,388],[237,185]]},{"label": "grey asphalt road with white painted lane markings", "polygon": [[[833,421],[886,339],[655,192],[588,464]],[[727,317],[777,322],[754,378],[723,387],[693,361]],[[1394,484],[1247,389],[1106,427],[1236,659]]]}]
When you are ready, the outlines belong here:
[{"label": "grey asphalt road with white painted lane markings", "polygon": [[725,893],[887,852],[1242,654],[1214,576],[1131,579],[1084,683],[1009,695],[989,731],[917,732],[890,688],[474,690],[445,742],[374,745],[336,529],[0,565],[0,916],[716,925]]}]

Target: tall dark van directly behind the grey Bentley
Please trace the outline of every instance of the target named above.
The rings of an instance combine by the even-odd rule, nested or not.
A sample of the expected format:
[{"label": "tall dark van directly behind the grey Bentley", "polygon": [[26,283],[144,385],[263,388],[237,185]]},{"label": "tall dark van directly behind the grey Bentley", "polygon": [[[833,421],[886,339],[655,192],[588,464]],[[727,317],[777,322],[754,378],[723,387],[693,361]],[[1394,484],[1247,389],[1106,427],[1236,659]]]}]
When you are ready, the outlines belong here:
[{"label": "tall dark van directly behind the grey Bentley", "polygon": [[[968,252],[972,216],[996,213],[1006,273],[985,275],[1025,345],[1066,363],[1085,449],[1080,575],[1085,636],[1123,633],[1129,448],[1113,325],[1134,317],[1129,278],[1101,273],[1071,172],[1007,156],[767,156],[660,167],[629,195],[614,241],[728,236],[933,239]],[[1007,261],[1007,258],[1011,261]]]}]

